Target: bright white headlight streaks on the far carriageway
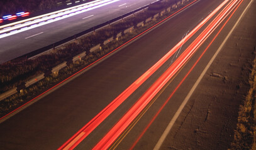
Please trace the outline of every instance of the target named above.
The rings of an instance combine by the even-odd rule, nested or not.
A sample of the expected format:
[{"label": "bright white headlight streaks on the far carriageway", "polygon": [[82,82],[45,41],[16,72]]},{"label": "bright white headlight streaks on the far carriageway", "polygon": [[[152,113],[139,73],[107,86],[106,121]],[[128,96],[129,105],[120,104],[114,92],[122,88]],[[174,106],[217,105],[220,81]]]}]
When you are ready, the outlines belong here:
[{"label": "bright white headlight streaks on the far carriageway", "polygon": [[[98,1],[98,2],[94,2],[93,4],[91,4],[92,6],[87,4],[86,8],[84,8],[84,6],[82,6],[82,7],[79,7],[77,9],[75,9],[75,10],[71,9],[69,11],[65,11],[65,13],[64,12],[58,12],[57,14],[52,14],[50,16],[40,17],[40,18],[35,19],[31,22],[26,21],[23,24],[20,24],[20,22],[18,22],[20,24],[19,26],[12,26],[12,27],[9,27],[8,29],[6,29],[6,28],[1,29],[0,30],[0,39],[3,38],[3,37],[11,36],[13,34],[17,34],[19,32],[25,31],[25,30],[21,30],[21,31],[17,30],[16,32],[10,32],[12,30],[20,29],[22,27],[29,26],[31,24],[37,24],[38,22],[45,21],[45,23],[40,24],[40,26],[43,26],[43,25],[48,24],[50,22],[55,22],[55,21],[58,21],[60,19],[65,19],[67,17],[71,17],[71,16],[74,16],[75,14],[80,14],[82,12],[91,11],[92,9],[100,8],[102,6],[106,6],[106,5],[111,4],[113,2],[116,2],[116,1],[120,1],[120,0]],[[8,18],[8,17],[13,17],[13,16],[6,16],[6,17]],[[54,19],[54,20],[52,20],[52,19]],[[50,20],[50,21],[48,21],[48,20]],[[0,28],[1,27],[3,27],[3,26],[0,26]],[[38,26],[30,26],[26,30],[33,29],[35,27],[38,27]],[[1,33],[7,33],[7,34],[1,34]]]}]

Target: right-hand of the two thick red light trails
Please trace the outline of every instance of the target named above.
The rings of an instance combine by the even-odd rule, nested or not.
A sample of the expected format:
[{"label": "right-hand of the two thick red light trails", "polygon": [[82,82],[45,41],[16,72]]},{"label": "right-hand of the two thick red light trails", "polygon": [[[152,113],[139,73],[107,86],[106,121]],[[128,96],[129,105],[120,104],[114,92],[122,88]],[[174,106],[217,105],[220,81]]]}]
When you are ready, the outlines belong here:
[{"label": "right-hand of the two thick red light trails", "polygon": [[106,136],[97,143],[93,149],[108,149],[111,144],[120,136],[123,131],[133,122],[133,120],[142,112],[148,103],[159,93],[160,89],[179,71],[179,69],[187,63],[203,42],[211,35],[211,33],[220,25],[220,23],[230,14],[233,6],[237,1],[231,1],[223,11],[204,29],[198,38],[187,47],[186,51],[160,76],[157,81],[147,90],[143,96],[133,105],[133,107],[114,125],[114,127],[106,134]]}]

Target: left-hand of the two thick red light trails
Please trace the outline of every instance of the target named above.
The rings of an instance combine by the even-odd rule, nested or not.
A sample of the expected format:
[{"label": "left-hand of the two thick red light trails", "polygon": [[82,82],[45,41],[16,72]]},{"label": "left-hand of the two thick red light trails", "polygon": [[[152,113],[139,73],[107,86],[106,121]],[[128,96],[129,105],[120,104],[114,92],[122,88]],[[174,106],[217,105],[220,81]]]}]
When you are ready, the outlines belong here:
[{"label": "left-hand of the two thick red light trails", "polygon": [[[112,101],[106,108],[103,109],[97,116],[95,116],[89,123],[86,124],[82,129],[80,129],[72,138],[70,138],[67,142],[65,142],[59,149],[74,149],[81,141],[86,138],[99,124],[101,124],[104,119],[106,119],[109,114],[111,114],[118,106],[120,106],[123,101],[125,101],[128,96],[130,96],[138,87],[140,87],[157,69],[162,66],[181,46],[189,40],[201,27],[206,24],[206,22],[211,19],[211,17],[216,14],[228,1],[224,1],[218,8],[216,8],[211,14],[209,14],[206,19],[204,19],[202,22],[198,24],[197,27],[195,27],[189,34],[187,34],[182,41],[180,41],[176,46],[174,46],[169,53],[165,54],[165,56],[160,59],[156,64],[152,66],[152,68],[148,69],[140,78],[136,79],[136,81],[131,84],[123,93],[121,93],[114,101]],[[192,2],[191,2],[192,4]],[[189,4],[187,5],[189,6]],[[184,8],[186,8],[185,6]],[[182,8],[182,9],[184,9]],[[180,10],[181,11],[181,10]],[[177,12],[176,12],[177,13]],[[174,14],[172,14],[173,16]],[[170,17],[170,16],[169,16]],[[160,22],[158,23],[160,24]],[[156,24],[157,25],[157,24]]]}]

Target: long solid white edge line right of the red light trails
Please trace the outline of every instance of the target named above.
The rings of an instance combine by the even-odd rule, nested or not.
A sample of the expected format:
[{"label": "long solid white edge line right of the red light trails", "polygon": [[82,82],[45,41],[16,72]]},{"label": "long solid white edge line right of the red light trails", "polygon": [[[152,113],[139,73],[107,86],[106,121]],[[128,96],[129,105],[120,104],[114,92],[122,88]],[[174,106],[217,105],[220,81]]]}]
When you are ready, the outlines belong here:
[{"label": "long solid white edge line right of the red light trails", "polygon": [[200,74],[198,80],[196,81],[196,83],[194,84],[194,86],[192,87],[192,89],[189,91],[189,93],[187,94],[186,98],[184,99],[184,101],[182,102],[181,106],[179,106],[179,109],[176,111],[176,113],[174,114],[174,117],[172,118],[172,120],[170,121],[170,123],[168,124],[167,128],[165,129],[164,133],[162,134],[162,136],[160,137],[159,141],[157,142],[157,144],[155,145],[155,148],[153,148],[153,150],[159,150],[160,147],[162,146],[162,144],[164,143],[165,138],[167,137],[167,135],[170,133],[170,129],[172,129],[172,126],[174,125],[175,121],[177,120],[177,118],[179,117],[179,115],[181,114],[182,109],[184,108],[184,106],[187,104],[187,101],[189,101],[189,98],[192,96],[192,94],[194,93],[196,87],[198,86],[198,84],[200,83],[201,79],[203,78],[204,74],[206,74],[206,71],[209,69],[209,67],[211,66],[211,64],[213,63],[214,59],[216,58],[216,56],[218,55],[218,53],[220,53],[220,50],[222,49],[222,47],[224,46],[224,44],[226,43],[226,41],[228,40],[228,38],[231,36],[232,32],[234,31],[234,29],[237,27],[238,23],[240,22],[240,20],[242,19],[242,17],[244,16],[245,12],[247,11],[247,9],[250,7],[250,5],[252,4],[254,0],[251,0],[250,3],[248,4],[247,8],[245,8],[245,10],[243,11],[243,13],[241,14],[241,16],[239,17],[239,19],[237,20],[237,22],[235,23],[235,25],[233,26],[233,28],[231,29],[231,31],[228,33],[228,35],[226,36],[225,40],[221,43],[221,46],[218,48],[218,50],[216,51],[216,53],[214,53],[213,58],[211,58],[211,60],[209,61],[209,63],[207,64],[207,66],[204,68],[203,72]]}]

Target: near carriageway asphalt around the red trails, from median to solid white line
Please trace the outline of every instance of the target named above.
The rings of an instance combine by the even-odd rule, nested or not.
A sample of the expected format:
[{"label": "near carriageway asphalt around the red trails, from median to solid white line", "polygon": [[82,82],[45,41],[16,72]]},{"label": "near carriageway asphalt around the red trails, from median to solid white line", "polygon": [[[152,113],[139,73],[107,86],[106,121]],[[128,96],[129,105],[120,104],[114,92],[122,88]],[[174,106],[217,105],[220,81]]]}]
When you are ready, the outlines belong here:
[{"label": "near carriageway asphalt around the red trails, from median to solid white line", "polygon": [[[188,31],[199,24],[202,18],[208,16],[223,0],[210,1],[200,0],[187,8],[185,11],[175,15],[164,24],[140,37],[128,46],[123,47],[108,59],[96,64],[86,73],[78,76],[64,86],[43,97],[28,108],[7,119],[0,124],[0,145],[3,149],[57,149],[73,136],[79,129],[88,123],[97,113],[105,108],[114,98],[124,91],[131,83],[139,78],[147,69],[162,58],[172,47],[181,41]],[[246,3],[246,2],[244,2]],[[243,4],[242,6],[245,6]],[[184,97],[198,79],[199,74],[213,56],[221,41],[228,34],[228,29],[233,27],[233,22],[239,14],[231,19],[222,32],[222,36],[216,39],[213,47],[205,54],[201,63],[192,72],[175,93],[174,97],[160,113],[155,124],[144,134],[136,144],[135,149],[153,149],[164,129],[179,108]],[[205,27],[205,26],[204,26]],[[202,30],[202,29],[201,29]],[[216,34],[216,32],[214,32]],[[186,49],[192,37],[182,47],[179,54]],[[209,37],[209,40],[213,36]],[[209,42],[206,41],[206,43]],[[147,113],[140,119],[135,127],[125,136],[117,149],[129,149],[138,135],[143,131],[152,116],[162,106],[170,93],[185,76],[192,64],[198,59],[207,45],[204,44],[194,54],[192,59],[175,79],[159,95],[155,103],[148,109]],[[177,54],[177,56],[179,56]],[[167,61],[156,73],[138,88],[135,93],[126,99],[121,106],[114,111],[103,123],[100,124],[89,136],[82,141],[77,149],[92,149],[97,142],[108,133],[109,129],[133,106],[140,96],[152,83],[164,73],[176,55]]]}]

